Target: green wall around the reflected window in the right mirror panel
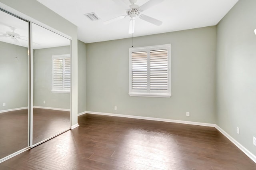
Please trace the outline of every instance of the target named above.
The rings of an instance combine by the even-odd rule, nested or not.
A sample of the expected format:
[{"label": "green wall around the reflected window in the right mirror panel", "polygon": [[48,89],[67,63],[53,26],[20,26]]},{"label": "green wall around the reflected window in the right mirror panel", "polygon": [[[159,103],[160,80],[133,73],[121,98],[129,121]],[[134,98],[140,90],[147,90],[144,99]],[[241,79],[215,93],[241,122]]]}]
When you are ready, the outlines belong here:
[{"label": "green wall around the reflected window in the right mirror panel", "polygon": [[70,54],[70,46],[34,50],[34,106],[70,109],[70,93],[51,92],[52,55],[62,54]]}]

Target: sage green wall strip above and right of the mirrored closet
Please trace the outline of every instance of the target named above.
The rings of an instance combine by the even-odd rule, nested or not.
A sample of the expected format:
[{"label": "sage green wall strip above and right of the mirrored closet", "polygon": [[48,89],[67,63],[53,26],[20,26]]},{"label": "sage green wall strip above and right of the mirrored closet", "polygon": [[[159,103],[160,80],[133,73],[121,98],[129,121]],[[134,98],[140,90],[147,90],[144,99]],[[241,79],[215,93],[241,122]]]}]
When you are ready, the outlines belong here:
[{"label": "sage green wall strip above and right of the mirrored closet", "polygon": [[[36,20],[72,38],[72,96],[71,125],[77,124],[78,112],[78,57],[77,26],[62,18],[36,0],[0,0],[0,7],[28,20]],[[38,23],[39,24],[39,23]],[[41,24],[40,24],[41,25]]]}]

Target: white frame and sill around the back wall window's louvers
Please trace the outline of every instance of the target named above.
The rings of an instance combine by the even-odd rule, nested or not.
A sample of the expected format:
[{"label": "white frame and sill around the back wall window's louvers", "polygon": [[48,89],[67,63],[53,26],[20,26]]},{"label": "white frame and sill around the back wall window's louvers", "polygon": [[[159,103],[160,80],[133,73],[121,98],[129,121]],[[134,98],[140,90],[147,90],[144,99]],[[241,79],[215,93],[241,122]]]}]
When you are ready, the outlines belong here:
[{"label": "white frame and sill around the back wall window's louvers", "polygon": [[[150,89],[150,51],[167,49],[167,90]],[[132,53],[147,51],[147,89],[132,89]],[[171,44],[136,47],[129,49],[129,95],[137,97],[171,97]]]}]

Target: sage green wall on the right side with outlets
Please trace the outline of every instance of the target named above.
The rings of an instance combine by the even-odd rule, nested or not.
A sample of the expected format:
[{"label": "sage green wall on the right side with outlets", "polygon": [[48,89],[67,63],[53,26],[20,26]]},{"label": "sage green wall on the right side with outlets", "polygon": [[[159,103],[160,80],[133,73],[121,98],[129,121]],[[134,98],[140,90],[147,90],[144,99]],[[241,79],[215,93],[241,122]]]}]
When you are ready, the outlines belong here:
[{"label": "sage green wall on the right side with outlets", "polygon": [[[256,0],[239,0],[217,26],[217,125],[256,155]],[[236,133],[240,128],[240,134]]]}]

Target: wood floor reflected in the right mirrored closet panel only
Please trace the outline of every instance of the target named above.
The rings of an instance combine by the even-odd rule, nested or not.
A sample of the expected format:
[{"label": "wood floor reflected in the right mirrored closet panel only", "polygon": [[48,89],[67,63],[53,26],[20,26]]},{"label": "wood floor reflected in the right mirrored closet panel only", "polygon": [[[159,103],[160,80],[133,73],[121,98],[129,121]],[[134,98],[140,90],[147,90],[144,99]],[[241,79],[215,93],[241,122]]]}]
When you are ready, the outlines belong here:
[{"label": "wood floor reflected in the right mirrored closet panel only", "polygon": [[33,109],[33,144],[70,128],[70,112],[52,109]]}]

